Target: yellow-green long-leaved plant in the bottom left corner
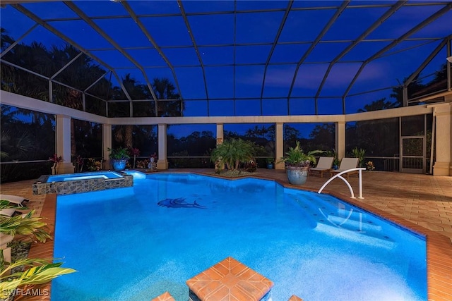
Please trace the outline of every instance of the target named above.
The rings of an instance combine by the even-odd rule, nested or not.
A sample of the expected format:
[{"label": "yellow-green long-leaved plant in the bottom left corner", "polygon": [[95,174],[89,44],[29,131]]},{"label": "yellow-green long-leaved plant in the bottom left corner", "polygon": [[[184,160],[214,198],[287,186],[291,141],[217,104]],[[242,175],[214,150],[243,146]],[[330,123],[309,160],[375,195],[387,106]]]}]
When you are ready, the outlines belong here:
[{"label": "yellow-green long-leaved plant in the bottom left corner", "polygon": [[[61,264],[46,259],[20,259],[8,264],[4,260],[3,250],[0,250],[0,297],[8,297],[20,285],[47,283],[53,278],[76,271],[62,268]],[[18,266],[28,266],[28,269],[10,275],[11,270]]]}]

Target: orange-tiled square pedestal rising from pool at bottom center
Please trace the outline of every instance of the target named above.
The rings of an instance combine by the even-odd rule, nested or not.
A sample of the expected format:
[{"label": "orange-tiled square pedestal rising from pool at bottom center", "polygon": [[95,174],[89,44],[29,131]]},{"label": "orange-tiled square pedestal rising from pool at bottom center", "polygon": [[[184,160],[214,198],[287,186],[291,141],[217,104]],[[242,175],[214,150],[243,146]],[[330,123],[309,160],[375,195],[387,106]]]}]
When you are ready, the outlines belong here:
[{"label": "orange-tiled square pedestal rising from pool at bottom center", "polygon": [[186,281],[189,300],[268,300],[273,281],[227,257]]}]

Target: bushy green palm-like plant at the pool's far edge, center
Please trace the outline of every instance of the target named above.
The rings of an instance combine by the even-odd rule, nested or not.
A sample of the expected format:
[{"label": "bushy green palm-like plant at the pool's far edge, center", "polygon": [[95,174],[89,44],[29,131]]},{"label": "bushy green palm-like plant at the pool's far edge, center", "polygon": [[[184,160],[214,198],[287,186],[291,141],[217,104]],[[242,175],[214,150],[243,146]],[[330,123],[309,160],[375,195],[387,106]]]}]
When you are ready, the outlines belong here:
[{"label": "bushy green palm-like plant at the pool's far edge, center", "polygon": [[254,145],[242,139],[226,140],[213,149],[210,161],[234,171],[241,162],[254,161]]}]

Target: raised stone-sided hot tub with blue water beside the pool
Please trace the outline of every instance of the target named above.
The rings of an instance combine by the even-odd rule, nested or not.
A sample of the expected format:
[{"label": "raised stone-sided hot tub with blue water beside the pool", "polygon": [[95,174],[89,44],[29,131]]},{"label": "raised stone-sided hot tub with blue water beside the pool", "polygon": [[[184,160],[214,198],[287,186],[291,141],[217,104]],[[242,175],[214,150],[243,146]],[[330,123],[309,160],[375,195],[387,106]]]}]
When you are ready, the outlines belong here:
[{"label": "raised stone-sided hot tub with blue water beside the pool", "polygon": [[34,195],[71,195],[112,188],[133,186],[133,176],[121,171],[95,171],[90,173],[67,173],[55,176],[40,176],[33,183]]}]

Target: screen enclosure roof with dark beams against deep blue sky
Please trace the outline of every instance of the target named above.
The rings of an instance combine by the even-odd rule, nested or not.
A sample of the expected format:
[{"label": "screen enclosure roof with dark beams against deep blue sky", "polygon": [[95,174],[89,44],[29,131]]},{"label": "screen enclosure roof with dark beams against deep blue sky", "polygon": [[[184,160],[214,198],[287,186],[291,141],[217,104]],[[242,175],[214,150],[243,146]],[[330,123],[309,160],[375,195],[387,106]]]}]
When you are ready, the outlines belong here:
[{"label": "screen enclosure roof with dark beams against deep blue sky", "polygon": [[[77,51],[133,99],[124,78],[167,78],[186,104],[270,106],[282,114],[356,112],[395,87],[435,78],[451,56],[451,1],[1,1],[1,28],[17,43]],[[2,63],[19,68],[20,61]],[[450,68],[450,64],[448,64]],[[32,70],[42,73],[42,71]],[[448,75],[450,88],[450,75]],[[89,93],[96,85],[64,82]],[[447,90],[442,85],[438,90]],[[109,101],[108,97],[97,95]],[[412,102],[416,97],[410,95]],[[414,100],[413,100],[414,99]],[[249,101],[249,102],[246,102]],[[236,103],[237,102],[237,103]],[[408,105],[405,102],[404,105]],[[195,114],[194,106],[186,105]],[[323,108],[323,109],[320,109]],[[273,110],[272,109],[272,110]],[[232,109],[234,114],[235,109]],[[207,113],[208,114],[208,113]],[[257,109],[257,114],[259,114]],[[265,114],[265,113],[264,113]]]}]

